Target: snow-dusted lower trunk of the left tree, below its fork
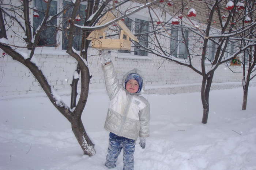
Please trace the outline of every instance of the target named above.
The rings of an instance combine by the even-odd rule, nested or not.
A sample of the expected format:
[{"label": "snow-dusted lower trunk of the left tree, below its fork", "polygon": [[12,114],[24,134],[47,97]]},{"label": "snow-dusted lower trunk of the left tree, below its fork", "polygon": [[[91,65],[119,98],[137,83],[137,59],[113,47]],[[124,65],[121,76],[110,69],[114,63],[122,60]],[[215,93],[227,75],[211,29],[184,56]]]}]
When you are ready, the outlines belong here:
[{"label": "snow-dusted lower trunk of the left tree, below its fork", "polygon": [[[74,113],[75,114],[75,113]],[[81,146],[85,155],[93,156],[95,154],[94,144],[86,134],[82,120],[80,117],[75,117],[71,122],[72,131]]]}]

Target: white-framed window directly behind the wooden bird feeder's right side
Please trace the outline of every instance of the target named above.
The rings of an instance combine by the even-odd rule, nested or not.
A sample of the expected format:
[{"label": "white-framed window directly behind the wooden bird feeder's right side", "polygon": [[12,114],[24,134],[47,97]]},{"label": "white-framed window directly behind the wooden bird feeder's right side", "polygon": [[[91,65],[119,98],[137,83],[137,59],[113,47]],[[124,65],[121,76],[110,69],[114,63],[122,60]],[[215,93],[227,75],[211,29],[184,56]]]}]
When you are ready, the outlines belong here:
[{"label": "white-framed window directly behind the wooden bird feeder's right side", "polygon": [[[136,36],[139,40],[139,43],[143,46],[148,46],[148,35],[143,33],[148,32],[148,21],[135,18],[134,20],[130,18],[125,18],[124,20],[125,25],[127,28],[131,30],[134,34],[141,34],[139,36]],[[124,36],[124,39],[126,37]],[[137,42],[134,42],[135,45],[138,44]],[[131,52],[134,51],[134,52]],[[118,50],[120,53],[126,53],[130,55],[138,55],[138,56],[148,56],[147,51],[141,50],[139,47],[132,47],[131,51],[129,50]]]}]

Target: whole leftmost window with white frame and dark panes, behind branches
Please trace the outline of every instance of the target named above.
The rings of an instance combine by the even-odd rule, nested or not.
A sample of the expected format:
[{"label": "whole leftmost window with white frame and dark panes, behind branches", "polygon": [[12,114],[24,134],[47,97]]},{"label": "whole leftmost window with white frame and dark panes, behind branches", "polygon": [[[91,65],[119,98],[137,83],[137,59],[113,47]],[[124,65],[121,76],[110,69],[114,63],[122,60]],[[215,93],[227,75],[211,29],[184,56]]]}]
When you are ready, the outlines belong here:
[{"label": "whole leftmost window with white frame and dark panes, behind branches", "polygon": [[[63,2],[63,3],[59,3]],[[53,0],[50,3],[50,12],[49,16],[53,16],[57,14],[57,9],[62,9],[68,7],[68,5],[72,4],[70,1],[55,1]],[[39,17],[34,17],[33,27],[34,33],[38,26],[42,23],[46,12],[46,5],[43,0],[35,0],[34,7],[39,11]],[[69,8],[67,11],[63,13],[63,16],[58,19],[53,19],[48,25],[58,25],[57,23],[62,23],[63,31],[57,32],[56,27],[49,27],[45,29],[40,36],[38,46],[48,46],[48,47],[56,47],[57,49],[66,50],[67,49],[67,37],[68,30],[67,27],[69,25],[69,18],[71,17],[71,12],[73,8]],[[75,21],[76,24],[83,25],[85,15],[86,15],[86,4],[81,3],[80,9],[77,15],[80,16],[80,21]],[[62,36],[61,36],[62,35]],[[75,29],[75,36],[73,40],[73,47],[75,50],[80,50],[80,45],[82,43],[82,31],[78,28]]]}]

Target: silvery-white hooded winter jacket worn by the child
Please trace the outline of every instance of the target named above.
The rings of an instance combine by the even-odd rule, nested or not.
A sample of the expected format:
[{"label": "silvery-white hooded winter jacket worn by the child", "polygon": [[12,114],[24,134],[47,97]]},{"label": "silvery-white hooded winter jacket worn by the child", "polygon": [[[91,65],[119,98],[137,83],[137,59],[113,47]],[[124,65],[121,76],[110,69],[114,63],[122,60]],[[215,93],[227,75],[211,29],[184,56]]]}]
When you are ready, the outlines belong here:
[{"label": "silvery-white hooded winter jacket worn by the child", "polygon": [[117,79],[112,62],[103,65],[102,70],[110,99],[105,129],[133,140],[138,136],[149,137],[150,108],[147,99],[125,90]]}]

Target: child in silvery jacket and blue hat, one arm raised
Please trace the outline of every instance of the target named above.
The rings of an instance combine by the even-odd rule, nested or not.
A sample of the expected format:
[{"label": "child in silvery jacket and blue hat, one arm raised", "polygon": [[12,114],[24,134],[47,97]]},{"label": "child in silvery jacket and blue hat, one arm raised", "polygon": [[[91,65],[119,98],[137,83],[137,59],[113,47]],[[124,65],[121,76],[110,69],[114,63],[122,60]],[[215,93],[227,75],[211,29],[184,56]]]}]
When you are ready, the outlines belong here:
[{"label": "child in silvery jacket and blue hat, one arm raised", "polygon": [[102,70],[110,99],[104,126],[110,131],[105,166],[109,169],[116,167],[117,157],[124,149],[123,170],[133,170],[135,142],[139,136],[140,146],[144,149],[146,137],[149,137],[149,103],[139,95],[143,80],[137,72],[131,72],[122,86],[111,62],[110,51],[102,50],[102,57],[105,60]]}]

